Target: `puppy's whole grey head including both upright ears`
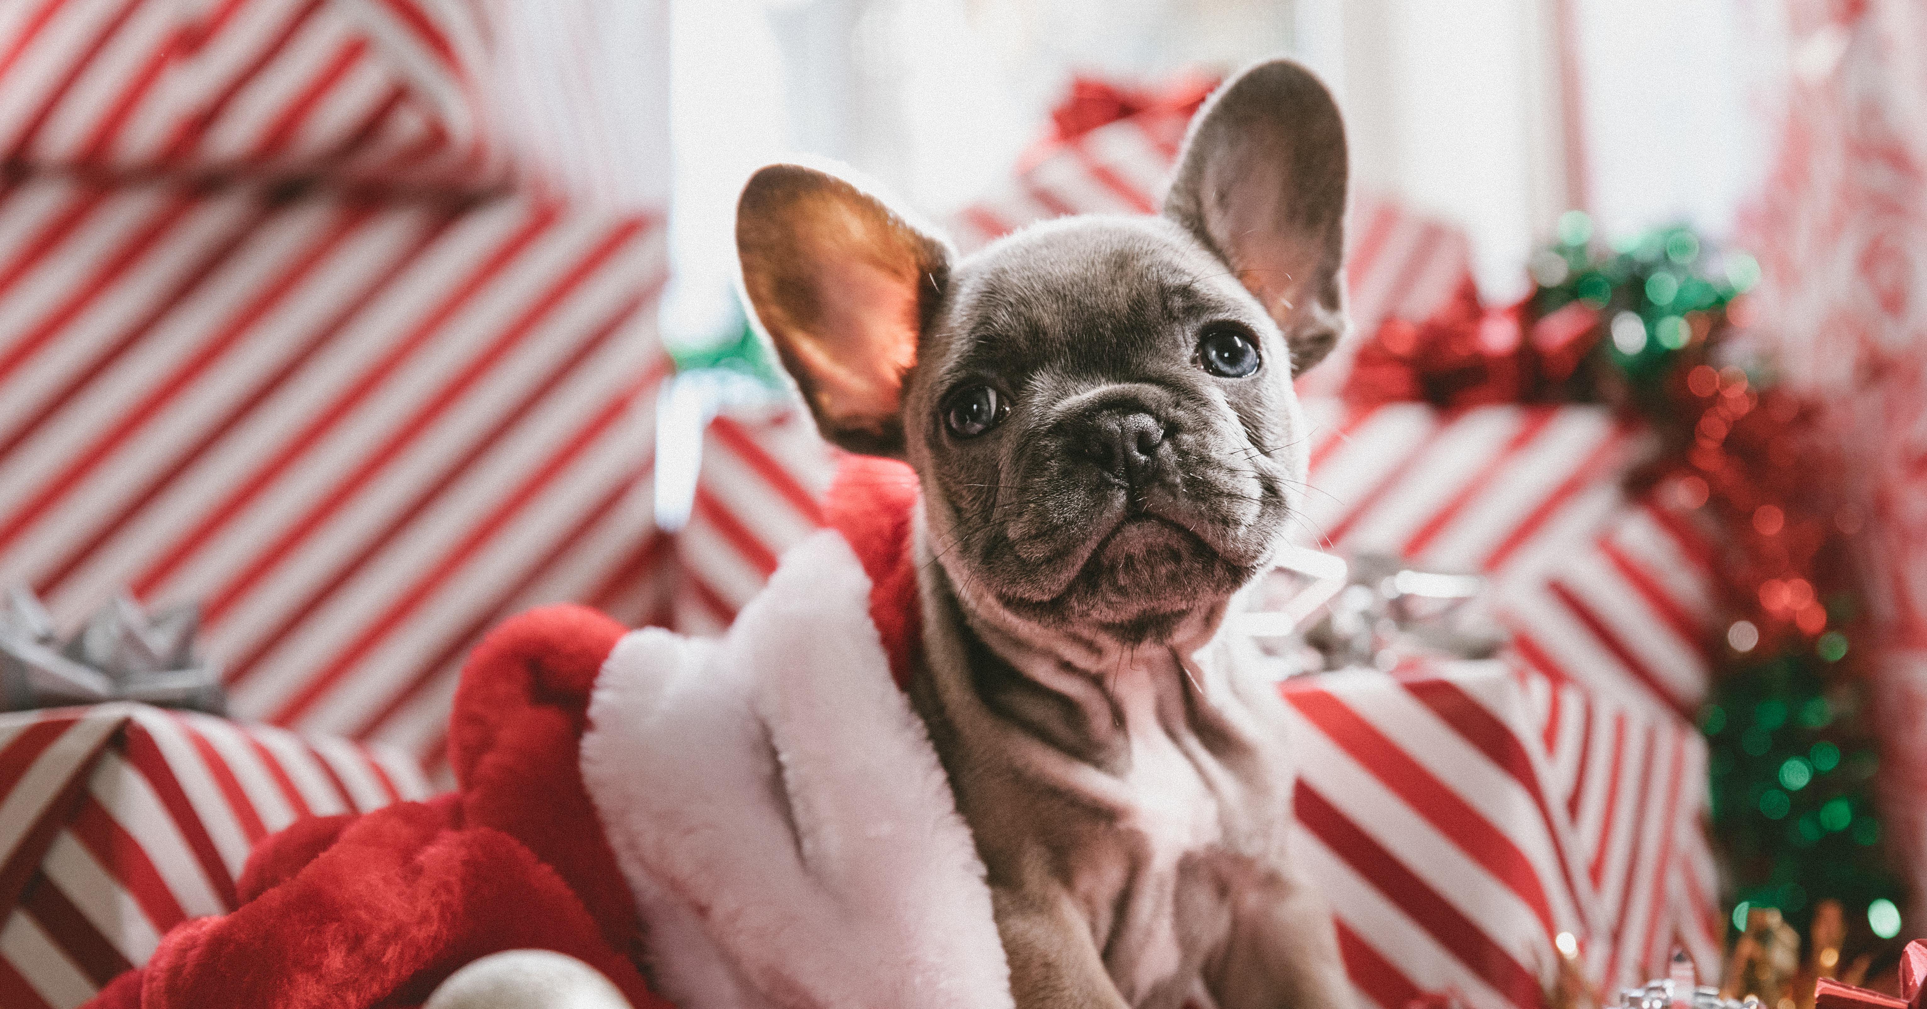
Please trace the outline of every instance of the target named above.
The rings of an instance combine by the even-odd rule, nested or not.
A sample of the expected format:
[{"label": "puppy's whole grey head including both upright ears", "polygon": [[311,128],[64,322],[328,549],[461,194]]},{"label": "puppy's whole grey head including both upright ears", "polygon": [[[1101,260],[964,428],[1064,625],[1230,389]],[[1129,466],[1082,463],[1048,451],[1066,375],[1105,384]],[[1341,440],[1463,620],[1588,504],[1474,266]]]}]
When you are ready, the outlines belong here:
[{"label": "puppy's whole grey head including both upright ears", "polygon": [[831,441],[908,458],[965,605],[1168,639],[1268,560],[1303,479],[1293,374],[1343,331],[1345,131],[1297,64],[1226,83],[1164,210],[952,262],[836,173],[771,166],[744,291]]}]

